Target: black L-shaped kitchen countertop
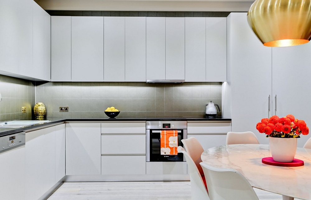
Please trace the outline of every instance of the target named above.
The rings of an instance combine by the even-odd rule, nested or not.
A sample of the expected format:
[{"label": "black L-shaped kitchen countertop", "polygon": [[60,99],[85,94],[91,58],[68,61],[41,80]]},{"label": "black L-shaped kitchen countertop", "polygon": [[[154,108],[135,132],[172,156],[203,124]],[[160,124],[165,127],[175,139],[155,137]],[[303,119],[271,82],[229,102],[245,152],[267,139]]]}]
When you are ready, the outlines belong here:
[{"label": "black L-shaped kitchen countertop", "polygon": [[[23,120],[34,120],[34,119],[23,119]],[[159,117],[159,118],[149,118],[149,117],[119,117],[119,118],[70,118],[70,117],[48,117],[44,120],[49,120],[50,122],[31,125],[22,128],[0,128],[0,137],[11,135],[14,133],[19,133],[22,131],[28,131],[34,128],[40,128],[48,125],[53,125],[56,123],[62,123],[67,121],[77,121],[77,122],[101,122],[101,121],[231,121],[231,119],[216,117],[216,118],[205,118],[205,117]]]}]

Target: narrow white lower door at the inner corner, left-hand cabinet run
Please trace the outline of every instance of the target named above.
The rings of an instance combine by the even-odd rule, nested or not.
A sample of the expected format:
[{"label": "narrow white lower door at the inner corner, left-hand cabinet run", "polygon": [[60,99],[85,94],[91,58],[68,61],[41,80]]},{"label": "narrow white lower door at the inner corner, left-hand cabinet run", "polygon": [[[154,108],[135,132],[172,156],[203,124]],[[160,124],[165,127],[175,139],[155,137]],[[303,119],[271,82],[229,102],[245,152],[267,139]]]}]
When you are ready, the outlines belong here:
[{"label": "narrow white lower door at the inner corner, left-hand cabinet run", "polygon": [[55,126],[55,183],[65,176],[65,124]]}]

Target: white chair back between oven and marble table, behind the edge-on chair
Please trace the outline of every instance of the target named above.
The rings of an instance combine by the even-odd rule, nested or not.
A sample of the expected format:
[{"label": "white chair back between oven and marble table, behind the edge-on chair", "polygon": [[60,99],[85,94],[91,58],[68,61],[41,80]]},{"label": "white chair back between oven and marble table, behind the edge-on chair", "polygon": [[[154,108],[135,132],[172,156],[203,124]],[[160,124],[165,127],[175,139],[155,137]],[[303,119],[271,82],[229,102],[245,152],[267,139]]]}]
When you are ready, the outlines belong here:
[{"label": "white chair back between oven and marble table, behind the edge-on chair", "polygon": [[200,165],[201,160],[201,154],[203,153],[204,149],[199,141],[195,137],[189,137],[188,139],[182,139],[181,142],[183,142],[183,146],[185,147],[187,153],[192,158],[193,162],[197,166],[197,169],[199,170],[200,174],[203,176],[203,170]]}]

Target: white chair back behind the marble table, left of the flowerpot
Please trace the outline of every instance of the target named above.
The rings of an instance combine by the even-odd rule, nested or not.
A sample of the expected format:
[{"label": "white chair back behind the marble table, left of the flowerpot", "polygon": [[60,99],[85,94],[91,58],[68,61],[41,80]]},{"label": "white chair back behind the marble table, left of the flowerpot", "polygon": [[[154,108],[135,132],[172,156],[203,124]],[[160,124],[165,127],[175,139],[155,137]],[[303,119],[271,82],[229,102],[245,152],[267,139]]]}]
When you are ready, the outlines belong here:
[{"label": "white chair back behind the marble table, left of the flowerpot", "polygon": [[251,132],[228,132],[226,145],[228,144],[259,144],[256,135]]}]

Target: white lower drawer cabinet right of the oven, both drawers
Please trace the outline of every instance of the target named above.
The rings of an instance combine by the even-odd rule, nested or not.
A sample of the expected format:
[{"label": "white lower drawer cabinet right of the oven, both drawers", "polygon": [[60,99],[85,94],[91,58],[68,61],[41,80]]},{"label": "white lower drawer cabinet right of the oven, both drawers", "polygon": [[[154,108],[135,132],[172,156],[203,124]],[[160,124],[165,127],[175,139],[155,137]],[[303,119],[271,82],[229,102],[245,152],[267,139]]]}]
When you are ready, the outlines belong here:
[{"label": "white lower drawer cabinet right of the oven, both drawers", "polygon": [[231,122],[197,123],[188,122],[187,137],[195,137],[204,150],[226,144],[227,133],[231,131]]}]

